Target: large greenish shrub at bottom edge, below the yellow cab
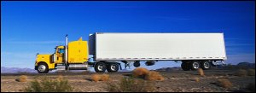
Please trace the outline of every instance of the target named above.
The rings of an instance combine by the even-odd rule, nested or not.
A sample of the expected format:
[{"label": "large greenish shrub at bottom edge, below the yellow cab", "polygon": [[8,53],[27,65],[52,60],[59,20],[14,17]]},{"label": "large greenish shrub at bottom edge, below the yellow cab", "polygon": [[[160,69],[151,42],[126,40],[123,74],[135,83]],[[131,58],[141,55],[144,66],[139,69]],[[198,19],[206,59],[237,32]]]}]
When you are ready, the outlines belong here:
[{"label": "large greenish shrub at bottom edge, below the yellow cab", "polygon": [[31,84],[25,88],[26,92],[70,92],[73,87],[68,84],[68,80],[48,79],[44,78],[41,82],[35,79]]}]

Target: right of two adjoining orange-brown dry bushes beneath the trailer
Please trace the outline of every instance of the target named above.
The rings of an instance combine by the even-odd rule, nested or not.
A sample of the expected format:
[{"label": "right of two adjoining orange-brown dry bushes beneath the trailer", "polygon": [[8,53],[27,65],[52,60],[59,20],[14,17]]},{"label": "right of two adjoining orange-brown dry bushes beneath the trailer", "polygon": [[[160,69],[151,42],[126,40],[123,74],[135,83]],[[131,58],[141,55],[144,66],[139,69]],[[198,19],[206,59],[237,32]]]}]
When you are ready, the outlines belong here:
[{"label": "right of two adjoining orange-brown dry bushes beneath the trailer", "polygon": [[160,75],[158,72],[150,71],[146,74],[146,80],[164,80],[163,76]]}]

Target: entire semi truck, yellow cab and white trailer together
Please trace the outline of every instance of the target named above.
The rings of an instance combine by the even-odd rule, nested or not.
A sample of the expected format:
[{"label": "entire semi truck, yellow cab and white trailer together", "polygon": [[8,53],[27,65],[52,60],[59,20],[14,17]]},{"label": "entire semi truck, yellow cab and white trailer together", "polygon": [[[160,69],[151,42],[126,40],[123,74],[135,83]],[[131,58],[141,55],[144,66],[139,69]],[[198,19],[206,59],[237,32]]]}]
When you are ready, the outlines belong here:
[{"label": "entire semi truck, yellow cab and white trailer together", "polygon": [[[59,54],[57,49],[63,49],[63,54]],[[56,55],[63,60],[55,62]],[[89,58],[88,55],[93,57]],[[84,70],[87,67],[94,67],[97,73],[103,73],[106,69],[114,73],[121,69],[119,61],[125,66],[133,62],[134,67],[140,67],[141,61],[146,61],[147,66],[154,65],[155,61],[182,61],[181,67],[187,71],[209,69],[218,61],[227,59],[224,33],[96,32],[90,34],[89,43],[81,38],[66,42],[65,46],[57,46],[55,54],[50,56],[54,66],[47,68],[49,63],[46,62],[41,65],[47,68],[46,71],[43,69],[40,72],[37,60],[35,69],[38,73],[48,73],[56,68]]]}]

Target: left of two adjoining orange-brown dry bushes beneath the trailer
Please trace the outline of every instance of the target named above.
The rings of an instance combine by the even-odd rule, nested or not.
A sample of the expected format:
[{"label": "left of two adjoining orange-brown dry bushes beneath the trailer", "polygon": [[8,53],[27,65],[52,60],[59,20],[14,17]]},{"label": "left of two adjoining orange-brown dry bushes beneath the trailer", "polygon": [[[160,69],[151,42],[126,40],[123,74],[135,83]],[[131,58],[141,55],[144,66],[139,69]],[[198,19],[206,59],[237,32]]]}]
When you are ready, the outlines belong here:
[{"label": "left of two adjoining orange-brown dry bushes beneath the trailer", "polygon": [[132,71],[132,76],[133,77],[142,77],[144,78],[146,76],[146,74],[148,74],[148,69],[143,68],[143,67],[137,67],[136,69],[134,69]]}]

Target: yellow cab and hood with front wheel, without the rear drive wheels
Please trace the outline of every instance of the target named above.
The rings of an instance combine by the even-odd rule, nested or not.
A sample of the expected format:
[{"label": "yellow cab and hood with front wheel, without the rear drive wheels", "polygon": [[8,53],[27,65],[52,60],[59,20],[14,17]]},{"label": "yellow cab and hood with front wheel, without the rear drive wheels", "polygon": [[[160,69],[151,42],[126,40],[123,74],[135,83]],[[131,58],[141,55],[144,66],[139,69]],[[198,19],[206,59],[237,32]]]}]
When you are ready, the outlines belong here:
[{"label": "yellow cab and hood with front wheel, without the rear drive wheels", "polygon": [[[67,36],[66,36],[67,39]],[[49,70],[62,69],[87,69],[88,45],[87,41],[79,38],[78,41],[67,43],[55,47],[55,53],[52,55],[37,55],[35,69],[38,73],[48,73]]]}]

